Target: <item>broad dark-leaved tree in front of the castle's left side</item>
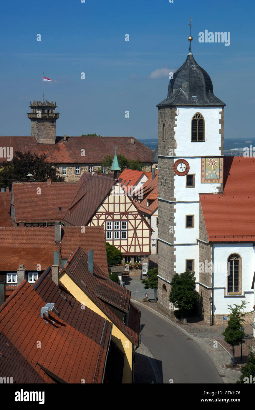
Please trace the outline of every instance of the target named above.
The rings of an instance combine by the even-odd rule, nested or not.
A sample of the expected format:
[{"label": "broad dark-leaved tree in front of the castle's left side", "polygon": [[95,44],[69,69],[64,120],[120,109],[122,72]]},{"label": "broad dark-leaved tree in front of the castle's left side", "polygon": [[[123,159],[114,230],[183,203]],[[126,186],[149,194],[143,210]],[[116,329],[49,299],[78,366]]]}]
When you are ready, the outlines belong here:
[{"label": "broad dark-leaved tree in front of the castle's left side", "polygon": [[[27,182],[27,174],[33,175],[34,182],[62,182],[64,179],[56,171],[56,168],[46,161],[46,155],[31,154],[30,151],[22,153],[16,151],[12,161],[5,161],[0,170],[0,185],[6,187],[10,182]],[[8,183],[9,182],[9,183]]]}]

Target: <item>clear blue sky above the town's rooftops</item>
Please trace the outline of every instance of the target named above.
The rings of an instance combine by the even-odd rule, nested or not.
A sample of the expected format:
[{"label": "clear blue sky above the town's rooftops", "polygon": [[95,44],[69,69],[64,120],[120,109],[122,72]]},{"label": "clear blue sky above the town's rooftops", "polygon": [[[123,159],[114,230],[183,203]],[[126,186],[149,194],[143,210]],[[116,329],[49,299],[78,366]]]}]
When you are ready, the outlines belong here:
[{"label": "clear blue sky above the town's rooftops", "polygon": [[[254,4],[251,0],[4,2],[0,135],[30,135],[27,106],[42,99],[44,71],[54,81],[44,83],[44,94],[59,107],[57,135],[97,132],[157,138],[156,104],[167,96],[167,71],[185,61],[192,16],[194,58],[210,75],[214,94],[226,103],[224,137],[254,137]],[[199,32],[205,30],[230,32],[230,46],[199,43]],[[37,34],[41,41],[36,41]],[[161,75],[151,78],[154,71]]]}]

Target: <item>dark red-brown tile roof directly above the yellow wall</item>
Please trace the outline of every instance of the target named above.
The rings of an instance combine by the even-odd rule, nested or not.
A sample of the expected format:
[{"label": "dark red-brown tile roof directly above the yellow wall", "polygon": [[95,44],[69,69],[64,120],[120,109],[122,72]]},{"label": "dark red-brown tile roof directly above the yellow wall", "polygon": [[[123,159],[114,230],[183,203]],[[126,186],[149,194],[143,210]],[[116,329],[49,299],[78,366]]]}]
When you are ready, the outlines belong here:
[{"label": "dark red-brown tile roof directly above the yellow wall", "polygon": [[[94,276],[88,271],[88,255],[80,247],[75,250],[68,260],[68,265],[64,271],[74,280],[74,282],[88,295],[93,302],[103,310],[109,320],[111,320],[124,333],[131,342],[139,346],[140,334],[140,311],[130,302],[130,292],[112,284],[110,278],[104,278],[102,272],[94,264]],[[114,282],[113,282],[114,283]],[[126,310],[129,305],[129,313],[126,317],[126,324],[121,321],[116,314],[104,303]],[[129,318],[130,317],[130,318]],[[130,320],[130,324],[129,324]]]}]

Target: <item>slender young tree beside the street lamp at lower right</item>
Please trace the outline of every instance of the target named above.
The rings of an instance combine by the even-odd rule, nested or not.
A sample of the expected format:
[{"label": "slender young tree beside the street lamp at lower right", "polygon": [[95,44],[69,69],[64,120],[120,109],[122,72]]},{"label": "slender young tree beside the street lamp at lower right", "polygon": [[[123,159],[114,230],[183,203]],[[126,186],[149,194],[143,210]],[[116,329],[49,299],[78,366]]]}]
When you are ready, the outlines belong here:
[{"label": "slender young tree beside the street lamp at lower right", "polygon": [[[244,302],[242,301],[241,305],[235,305],[235,307],[232,307],[232,305],[228,305],[228,309],[230,310],[230,315],[228,319],[228,326],[222,333],[224,336],[225,342],[230,344],[233,349],[233,359],[235,358],[235,351],[234,348],[235,346],[239,346],[243,340],[244,332],[241,330],[242,323],[241,322],[246,322],[244,319],[244,316],[247,313],[252,313],[252,312],[246,312],[244,313],[244,307],[245,305],[249,302]],[[243,340],[244,343],[244,340]],[[234,360],[233,360],[234,362]],[[235,364],[234,364],[235,366]]]}]

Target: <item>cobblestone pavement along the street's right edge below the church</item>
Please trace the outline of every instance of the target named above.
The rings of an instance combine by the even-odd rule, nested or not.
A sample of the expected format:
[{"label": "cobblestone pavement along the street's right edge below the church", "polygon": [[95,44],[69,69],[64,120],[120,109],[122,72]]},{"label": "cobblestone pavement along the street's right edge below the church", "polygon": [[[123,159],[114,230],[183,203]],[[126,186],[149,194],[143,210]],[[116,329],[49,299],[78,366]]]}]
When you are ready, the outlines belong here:
[{"label": "cobblestone pavement along the street's right edge below the church", "polygon": [[[132,299],[133,294],[131,294]],[[165,316],[154,303],[144,303],[142,301],[133,300],[142,304],[142,306],[147,309],[153,310],[155,314],[164,317],[166,321],[169,321],[172,325],[179,328],[183,331],[188,337],[191,337],[195,343],[199,344],[201,348],[209,355],[215,367],[217,368],[220,376],[224,383],[236,383],[239,379],[241,372],[240,370],[230,370],[223,369],[221,366],[225,364],[230,364],[230,345],[227,344],[222,339],[222,325],[210,326],[204,323],[202,320],[197,319],[198,321],[193,323],[188,323],[183,325],[181,323],[176,323],[177,319],[169,319]],[[224,327],[226,328],[226,324]],[[249,324],[244,324],[244,332],[246,335],[253,335],[253,329]],[[217,344],[216,344],[217,342]],[[216,346],[216,347],[214,347]],[[235,347],[235,359],[237,364],[244,365],[247,362],[247,357],[249,353],[248,341],[243,344],[243,360],[240,360],[241,346]]]}]

